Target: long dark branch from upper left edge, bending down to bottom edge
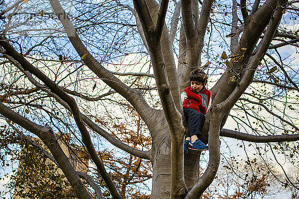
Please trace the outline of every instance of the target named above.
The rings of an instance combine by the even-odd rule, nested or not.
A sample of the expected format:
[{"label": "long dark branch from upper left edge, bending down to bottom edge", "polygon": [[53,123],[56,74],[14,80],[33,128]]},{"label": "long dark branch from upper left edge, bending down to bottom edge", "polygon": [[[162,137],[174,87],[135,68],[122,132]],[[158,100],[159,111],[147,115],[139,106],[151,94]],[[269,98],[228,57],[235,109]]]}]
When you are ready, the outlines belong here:
[{"label": "long dark branch from upper left edge, bending down to bottom edge", "polygon": [[0,36],[0,45],[5,49],[5,52],[11,56],[14,60],[16,60],[24,70],[30,72],[31,74],[35,75],[39,80],[41,80],[47,87],[51,89],[53,93],[55,93],[59,98],[67,102],[67,104],[70,106],[71,112],[73,113],[75,122],[80,130],[80,133],[82,135],[82,141],[87,148],[87,151],[89,152],[91,159],[94,161],[94,163],[97,166],[97,169],[101,176],[103,177],[109,191],[111,192],[111,195],[115,199],[121,199],[121,196],[119,195],[118,191],[116,190],[116,187],[114,183],[112,182],[109,174],[107,173],[104,164],[98,157],[98,154],[93,146],[93,143],[91,141],[90,135],[88,130],[85,127],[84,122],[82,121],[81,114],[79,111],[79,108],[76,104],[76,101],[69,97],[61,88],[59,88],[55,82],[51,81],[46,75],[44,75],[42,72],[40,72],[37,68],[33,67],[21,54],[16,52],[14,48],[2,37]]}]

